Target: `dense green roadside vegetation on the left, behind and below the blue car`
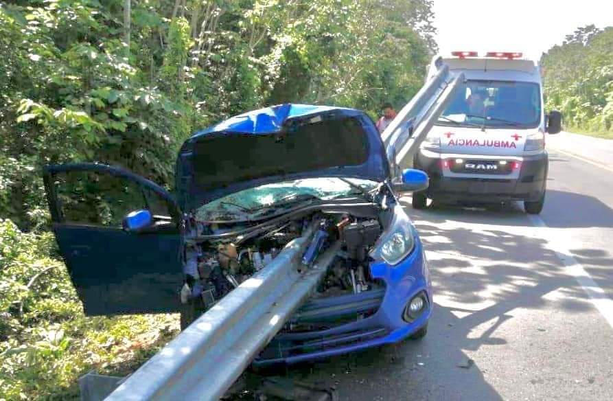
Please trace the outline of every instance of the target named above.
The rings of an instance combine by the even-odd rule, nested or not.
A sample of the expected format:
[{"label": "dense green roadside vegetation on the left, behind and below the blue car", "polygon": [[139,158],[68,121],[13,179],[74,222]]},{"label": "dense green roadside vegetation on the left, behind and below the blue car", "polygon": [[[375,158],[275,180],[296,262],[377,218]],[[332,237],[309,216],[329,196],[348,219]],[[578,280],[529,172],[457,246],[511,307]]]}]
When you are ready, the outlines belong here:
[{"label": "dense green roadside vegetation on the left, behind and below the blue car", "polygon": [[[174,315],[86,318],[59,261],[47,163],[102,161],[172,189],[194,131],[268,104],[398,106],[435,49],[431,0],[0,3],[0,400],[123,375]],[[95,194],[86,194],[95,196]]]}]

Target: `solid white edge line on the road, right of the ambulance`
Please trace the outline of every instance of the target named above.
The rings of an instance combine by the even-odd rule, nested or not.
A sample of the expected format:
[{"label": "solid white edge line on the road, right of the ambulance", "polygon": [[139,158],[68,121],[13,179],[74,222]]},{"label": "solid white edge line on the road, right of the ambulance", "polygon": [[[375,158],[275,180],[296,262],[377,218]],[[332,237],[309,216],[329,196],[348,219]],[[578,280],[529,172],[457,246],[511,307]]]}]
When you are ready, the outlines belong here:
[{"label": "solid white edge line on the road, right of the ambulance", "polygon": [[[528,218],[535,227],[551,230],[539,216],[528,215]],[[572,256],[568,247],[564,244],[565,240],[568,240],[568,233],[564,233],[564,237],[562,237],[555,235],[555,233],[551,231],[547,233],[543,239],[548,242],[549,248],[557,255],[559,260],[564,263],[566,273],[575,277],[575,280],[577,280],[588,297],[590,297],[590,301],[594,307],[597,308],[607,323],[613,328],[613,300],[605,295],[604,290],[594,282],[590,273],[588,273],[586,269],[577,262],[575,257]]]}]

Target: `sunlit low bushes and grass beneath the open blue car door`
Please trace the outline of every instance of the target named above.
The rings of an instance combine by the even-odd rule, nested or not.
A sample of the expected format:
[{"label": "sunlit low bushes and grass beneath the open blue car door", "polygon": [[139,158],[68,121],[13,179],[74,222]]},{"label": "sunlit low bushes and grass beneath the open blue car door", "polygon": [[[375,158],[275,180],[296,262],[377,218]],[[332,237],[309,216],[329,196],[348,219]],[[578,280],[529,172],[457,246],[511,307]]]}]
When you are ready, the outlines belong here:
[{"label": "sunlit low bushes and grass beneath the open blue car door", "polygon": [[79,376],[128,374],[177,332],[173,314],[85,317],[53,234],[0,220],[0,400],[77,398]]}]

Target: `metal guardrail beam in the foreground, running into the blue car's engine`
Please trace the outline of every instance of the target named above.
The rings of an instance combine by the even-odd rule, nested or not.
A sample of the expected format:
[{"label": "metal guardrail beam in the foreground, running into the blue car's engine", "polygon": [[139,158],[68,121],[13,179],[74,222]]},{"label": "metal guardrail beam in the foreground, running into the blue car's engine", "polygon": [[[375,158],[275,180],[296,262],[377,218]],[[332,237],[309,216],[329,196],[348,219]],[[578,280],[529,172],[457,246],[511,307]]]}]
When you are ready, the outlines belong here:
[{"label": "metal guardrail beam in the foreground, running into the blue car's engine", "polygon": [[315,225],[262,271],[223,297],[119,385],[106,400],[217,400],[303,303],[340,249],[299,273]]}]

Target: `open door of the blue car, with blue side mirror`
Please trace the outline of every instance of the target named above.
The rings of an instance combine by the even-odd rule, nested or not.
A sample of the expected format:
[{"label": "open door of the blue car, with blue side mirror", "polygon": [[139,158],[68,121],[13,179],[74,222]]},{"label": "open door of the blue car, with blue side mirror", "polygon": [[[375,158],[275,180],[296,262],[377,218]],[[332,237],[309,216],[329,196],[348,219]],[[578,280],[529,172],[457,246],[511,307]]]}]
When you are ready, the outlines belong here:
[{"label": "open door of the blue car, with blue side mirror", "polygon": [[[181,212],[168,192],[97,163],[48,165],[44,180],[56,240],[85,314],[178,310]],[[146,226],[124,229],[134,211],[148,217]]]}]

